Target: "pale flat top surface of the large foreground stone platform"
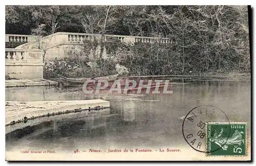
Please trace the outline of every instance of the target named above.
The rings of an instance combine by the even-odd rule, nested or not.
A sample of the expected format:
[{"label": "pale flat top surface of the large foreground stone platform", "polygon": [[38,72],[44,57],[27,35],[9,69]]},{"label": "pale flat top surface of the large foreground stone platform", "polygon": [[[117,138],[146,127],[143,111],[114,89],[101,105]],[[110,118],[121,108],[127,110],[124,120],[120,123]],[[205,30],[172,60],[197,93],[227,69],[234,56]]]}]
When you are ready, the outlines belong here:
[{"label": "pale flat top surface of the large foreground stone platform", "polygon": [[[109,101],[101,99],[94,100],[72,100],[72,101],[6,101],[5,105],[5,124],[18,120],[46,115],[48,113],[65,112],[67,110],[88,109],[95,107],[110,107]],[[87,110],[89,111],[89,110]],[[97,110],[100,111],[100,110]],[[63,113],[64,114],[64,113]],[[67,113],[69,115],[69,113]],[[57,114],[55,117],[58,116]],[[54,116],[52,116],[54,117]],[[30,120],[31,122],[34,120]],[[28,121],[29,122],[29,121]],[[24,122],[20,122],[23,124]],[[12,125],[10,125],[11,127]],[[15,126],[15,125],[13,125]]]}]

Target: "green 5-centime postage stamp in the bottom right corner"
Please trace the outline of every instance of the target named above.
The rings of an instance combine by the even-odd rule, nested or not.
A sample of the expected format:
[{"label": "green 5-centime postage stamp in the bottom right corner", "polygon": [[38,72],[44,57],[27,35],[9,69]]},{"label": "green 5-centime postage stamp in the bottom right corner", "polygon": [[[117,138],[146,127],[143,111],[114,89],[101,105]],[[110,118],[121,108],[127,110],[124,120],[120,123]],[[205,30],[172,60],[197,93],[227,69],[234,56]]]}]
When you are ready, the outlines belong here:
[{"label": "green 5-centime postage stamp in the bottom right corner", "polygon": [[247,124],[206,123],[207,156],[247,155]]}]

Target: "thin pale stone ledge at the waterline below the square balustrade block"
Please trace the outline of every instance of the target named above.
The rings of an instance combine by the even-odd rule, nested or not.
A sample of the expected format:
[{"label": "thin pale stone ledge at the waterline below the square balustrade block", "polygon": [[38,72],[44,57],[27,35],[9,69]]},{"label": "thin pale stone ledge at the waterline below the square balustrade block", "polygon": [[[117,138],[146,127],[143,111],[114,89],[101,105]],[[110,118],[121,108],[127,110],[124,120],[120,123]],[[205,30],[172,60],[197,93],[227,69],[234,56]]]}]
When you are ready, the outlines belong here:
[{"label": "thin pale stone ledge at the waterline below the square balustrade block", "polygon": [[46,79],[12,79],[5,80],[5,87],[23,87],[23,86],[51,86],[58,85],[56,81]]}]

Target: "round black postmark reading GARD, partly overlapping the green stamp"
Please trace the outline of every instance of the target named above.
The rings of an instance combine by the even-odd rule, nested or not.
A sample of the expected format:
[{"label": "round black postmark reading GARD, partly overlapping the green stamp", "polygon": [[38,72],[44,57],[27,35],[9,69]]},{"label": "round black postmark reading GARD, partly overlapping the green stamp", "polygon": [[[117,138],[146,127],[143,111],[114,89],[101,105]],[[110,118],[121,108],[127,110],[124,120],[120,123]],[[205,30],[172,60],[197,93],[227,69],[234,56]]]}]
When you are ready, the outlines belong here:
[{"label": "round black postmark reading GARD, partly overlapping the green stamp", "polygon": [[[230,129],[226,129],[226,137],[221,139],[221,143],[218,140],[218,123],[229,123],[227,115],[219,108],[212,105],[201,105],[190,110],[184,117],[182,123],[182,134],[187,144],[198,152],[210,153],[217,151],[227,143],[230,137]],[[207,131],[207,125],[209,123],[215,123],[215,126]],[[208,148],[207,143],[213,142],[218,144],[216,148]]]}]

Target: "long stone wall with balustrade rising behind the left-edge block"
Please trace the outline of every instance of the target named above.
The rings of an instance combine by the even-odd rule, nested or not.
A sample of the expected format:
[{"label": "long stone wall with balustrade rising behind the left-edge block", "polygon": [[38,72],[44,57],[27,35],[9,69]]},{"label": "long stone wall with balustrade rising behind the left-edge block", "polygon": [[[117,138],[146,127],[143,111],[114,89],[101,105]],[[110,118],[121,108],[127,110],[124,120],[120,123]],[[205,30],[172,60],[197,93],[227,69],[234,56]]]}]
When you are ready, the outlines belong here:
[{"label": "long stone wall with balustrade rising behind the left-edge block", "polygon": [[[100,34],[86,34],[86,33],[68,33],[68,32],[57,32],[52,35],[42,37],[40,39],[40,47],[42,50],[46,50],[45,59],[51,60],[55,58],[65,58],[70,52],[82,49],[84,40],[101,40],[102,35]],[[124,35],[104,35],[104,40],[109,41],[111,39],[120,40],[126,44],[134,43],[159,43],[174,45],[175,41],[171,38],[160,38],[160,37],[145,37],[145,36],[124,36]],[[16,47],[16,49],[38,49],[38,41],[33,40]],[[105,48],[104,48],[105,50]],[[100,45],[98,45],[96,54],[100,52]],[[103,55],[105,56],[105,51]],[[106,57],[106,56],[105,56]]]}]

